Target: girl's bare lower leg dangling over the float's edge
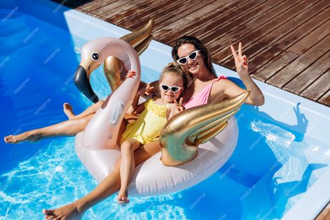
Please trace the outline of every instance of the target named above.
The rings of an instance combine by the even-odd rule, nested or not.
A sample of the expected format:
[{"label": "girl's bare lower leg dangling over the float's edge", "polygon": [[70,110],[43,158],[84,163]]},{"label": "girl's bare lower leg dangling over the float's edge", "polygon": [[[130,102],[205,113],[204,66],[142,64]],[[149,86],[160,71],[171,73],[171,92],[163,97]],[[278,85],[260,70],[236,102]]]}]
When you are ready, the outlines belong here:
[{"label": "girl's bare lower leg dangling over the float's edge", "polygon": [[140,142],[133,138],[130,138],[121,144],[121,188],[118,195],[119,203],[128,203],[128,184],[130,183],[130,179],[132,179],[132,175],[134,173],[134,151],[138,147],[140,147]]}]

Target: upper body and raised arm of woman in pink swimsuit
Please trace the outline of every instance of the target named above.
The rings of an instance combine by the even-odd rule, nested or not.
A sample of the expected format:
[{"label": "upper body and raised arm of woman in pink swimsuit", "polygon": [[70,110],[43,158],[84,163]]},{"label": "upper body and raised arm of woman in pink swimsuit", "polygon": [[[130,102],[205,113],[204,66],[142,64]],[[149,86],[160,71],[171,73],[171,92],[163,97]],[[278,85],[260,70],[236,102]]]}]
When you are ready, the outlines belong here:
[{"label": "upper body and raised arm of woman in pink swimsuit", "polygon": [[[250,105],[263,105],[264,96],[248,74],[248,60],[245,55],[242,56],[241,43],[239,43],[239,54],[236,53],[232,45],[230,48],[234,55],[239,78],[243,81],[246,89],[250,91],[250,96],[246,100],[246,103]],[[183,104],[186,108],[190,106],[193,107],[192,105],[196,106],[214,101],[221,101],[225,98],[237,96],[245,91],[234,84],[234,82],[216,76],[211,64],[211,55],[197,38],[192,36],[179,38],[173,47],[172,57],[181,64],[186,71],[189,71],[193,75],[194,85],[191,88],[193,91],[190,91],[193,98]],[[203,89],[205,89],[204,94],[202,92]],[[209,91],[209,93],[207,93],[207,91]],[[198,98],[201,99],[197,101]]]}]

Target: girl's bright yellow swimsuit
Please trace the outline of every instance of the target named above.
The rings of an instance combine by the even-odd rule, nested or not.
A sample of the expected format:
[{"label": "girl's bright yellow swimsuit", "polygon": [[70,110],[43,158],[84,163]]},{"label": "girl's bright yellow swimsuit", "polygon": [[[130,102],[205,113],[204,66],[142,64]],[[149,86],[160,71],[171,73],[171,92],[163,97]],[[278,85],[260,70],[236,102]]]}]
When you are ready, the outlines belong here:
[{"label": "girl's bright yellow swimsuit", "polygon": [[134,138],[142,145],[157,140],[166,123],[167,105],[157,105],[152,99],[144,103],[145,109],[137,120],[127,125],[121,143]]}]

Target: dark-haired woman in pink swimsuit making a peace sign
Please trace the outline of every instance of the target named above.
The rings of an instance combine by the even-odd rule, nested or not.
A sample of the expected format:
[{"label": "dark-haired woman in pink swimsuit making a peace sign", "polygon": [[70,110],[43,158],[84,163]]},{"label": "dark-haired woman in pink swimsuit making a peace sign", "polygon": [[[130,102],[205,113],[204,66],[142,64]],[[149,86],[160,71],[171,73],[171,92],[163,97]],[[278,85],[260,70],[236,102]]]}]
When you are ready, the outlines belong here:
[{"label": "dark-haired woman in pink swimsuit making a peace sign", "polygon": [[[246,100],[246,103],[251,105],[263,105],[264,96],[262,91],[260,91],[250,78],[250,75],[248,75],[248,60],[245,55],[242,55],[241,47],[241,43],[239,43],[238,54],[235,52],[234,47],[231,46],[231,49],[239,78],[243,81],[246,89],[250,91],[250,97]],[[185,103],[186,108],[191,108],[193,105],[196,106],[220,101],[224,98],[237,96],[245,91],[230,80],[217,78],[211,64],[211,55],[197,38],[190,36],[179,38],[172,50],[172,57],[192,74],[192,85],[190,89],[192,98]],[[181,106],[179,105],[177,108],[179,109]],[[159,152],[159,150],[160,147],[157,140],[137,149],[134,152],[135,166],[143,163]],[[73,219],[81,217],[89,207],[100,203],[100,201],[118,191],[121,185],[120,164],[121,158],[117,161],[112,173],[105,177],[105,179],[96,186],[96,189],[93,189],[87,196],[69,205],[59,207],[56,210],[43,210],[45,218]]]}]

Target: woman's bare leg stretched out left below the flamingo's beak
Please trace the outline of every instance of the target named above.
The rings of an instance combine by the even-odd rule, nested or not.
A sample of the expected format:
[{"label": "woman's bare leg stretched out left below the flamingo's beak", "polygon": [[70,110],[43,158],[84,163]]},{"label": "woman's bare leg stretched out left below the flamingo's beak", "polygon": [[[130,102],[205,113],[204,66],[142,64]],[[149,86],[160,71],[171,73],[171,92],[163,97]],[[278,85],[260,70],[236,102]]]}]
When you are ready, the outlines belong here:
[{"label": "woman's bare leg stretched out left below the flamingo's beak", "polygon": [[59,124],[53,124],[41,129],[26,131],[18,135],[8,135],[4,138],[6,143],[16,144],[24,140],[37,141],[41,138],[48,138],[53,136],[71,136],[76,135],[80,131],[84,131],[89,120],[94,114],[90,114],[77,119],[67,120]]}]

